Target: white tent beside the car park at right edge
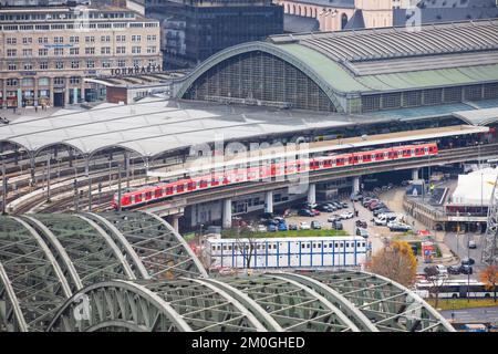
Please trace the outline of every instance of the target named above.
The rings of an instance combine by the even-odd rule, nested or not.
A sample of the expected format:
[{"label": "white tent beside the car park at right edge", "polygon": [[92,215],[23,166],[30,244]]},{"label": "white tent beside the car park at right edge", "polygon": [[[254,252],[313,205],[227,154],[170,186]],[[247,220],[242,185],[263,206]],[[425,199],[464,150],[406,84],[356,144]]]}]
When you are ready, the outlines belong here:
[{"label": "white tent beside the car park at right edge", "polygon": [[497,168],[483,168],[458,176],[458,185],[452,196],[453,204],[488,206],[498,176]]}]

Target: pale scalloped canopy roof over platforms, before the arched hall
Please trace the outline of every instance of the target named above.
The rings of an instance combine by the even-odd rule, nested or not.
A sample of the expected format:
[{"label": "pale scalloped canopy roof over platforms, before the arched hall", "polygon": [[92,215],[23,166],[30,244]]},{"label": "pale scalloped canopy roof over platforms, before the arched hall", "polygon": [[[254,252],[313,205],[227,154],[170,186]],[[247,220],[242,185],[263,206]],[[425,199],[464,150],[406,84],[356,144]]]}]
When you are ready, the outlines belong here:
[{"label": "pale scalloped canopy roof over platforms, before the arched hall", "polygon": [[387,119],[146,98],[133,105],[63,110],[45,118],[21,117],[0,126],[0,142],[17,143],[30,152],[65,144],[89,155],[106,147],[123,147],[155,156],[221,136],[232,140],[380,121]]}]

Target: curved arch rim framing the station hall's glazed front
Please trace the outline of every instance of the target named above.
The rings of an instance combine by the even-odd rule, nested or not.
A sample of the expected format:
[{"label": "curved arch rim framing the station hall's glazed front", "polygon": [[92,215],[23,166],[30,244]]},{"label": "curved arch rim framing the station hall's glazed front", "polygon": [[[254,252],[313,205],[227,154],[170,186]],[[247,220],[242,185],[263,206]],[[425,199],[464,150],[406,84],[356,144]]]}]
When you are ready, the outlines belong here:
[{"label": "curved arch rim framing the station hall's glazed front", "polygon": [[339,100],[339,93],[335,92],[310,65],[303,63],[301,60],[299,60],[297,56],[290,54],[289,52],[286,52],[281,50],[280,48],[272,45],[267,42],[248,42],[242,43],[238,45],[230,46],[228,49],[225,49],[207,60],[205,60],[200,65],[197,66],[197,69],[187,76],[180,88],[178,90],[176,97],[181,98],[188,91],[188,88],[196,82],[204,73],[209,71],[211,67],[216,66],[217,64],[221,63],[222,61],[248,52],[255,52],[260,51],[264,52],[267,54],[271,54],[277,56],[280,60],[283,60],[288,64],[297,67],[300,70],[303,74],[305,74],[311,81],[313,81],[320,90],[322,90],[325,95],[329,97],[329,100],[334,105],[335,110],[339,113],[344,113],[345,108],[341,104]]}]

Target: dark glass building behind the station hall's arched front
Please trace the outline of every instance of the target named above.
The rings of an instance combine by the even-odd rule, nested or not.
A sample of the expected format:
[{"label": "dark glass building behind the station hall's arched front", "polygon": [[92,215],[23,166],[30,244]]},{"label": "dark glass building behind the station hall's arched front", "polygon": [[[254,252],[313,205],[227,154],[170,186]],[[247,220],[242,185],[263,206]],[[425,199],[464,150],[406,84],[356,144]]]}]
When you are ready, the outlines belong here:
[{"label": "dark glass building behind the station hall's arched front", "polygon": [[271,0],[147,0],[145,15],[162,21],[164,63],[172,69],[283,33],[283,9]]}]

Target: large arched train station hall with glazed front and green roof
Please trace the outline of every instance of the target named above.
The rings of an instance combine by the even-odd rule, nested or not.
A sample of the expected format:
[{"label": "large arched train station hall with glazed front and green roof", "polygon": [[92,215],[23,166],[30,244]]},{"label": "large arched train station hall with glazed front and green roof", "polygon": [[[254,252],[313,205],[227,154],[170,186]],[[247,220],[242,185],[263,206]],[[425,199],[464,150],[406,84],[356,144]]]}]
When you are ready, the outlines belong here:
[{"label": "large arched train station hall with glazed front and green roof", "polygon": [[498,21],[272,35],[221,51],[177,96],[345,114],[498,98]]}]

